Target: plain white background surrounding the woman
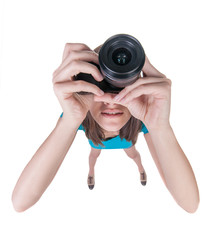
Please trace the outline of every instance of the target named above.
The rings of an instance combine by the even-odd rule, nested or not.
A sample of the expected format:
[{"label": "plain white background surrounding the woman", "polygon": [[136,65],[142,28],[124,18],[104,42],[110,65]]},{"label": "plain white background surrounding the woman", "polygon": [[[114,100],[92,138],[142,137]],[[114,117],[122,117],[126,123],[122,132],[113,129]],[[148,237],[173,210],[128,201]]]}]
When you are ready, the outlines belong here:
[{"label": "plain white background surrounding the woman", "polygon": [[[0,239],[217,239],[216,1],[1,1]],[[87,186],[90,146],[79,131],[42,198],[23,213],[11,194],[62,109],[52,73],[66,42],[94,49],[118,33],[135,36],[172,80],[171,125],[199,185],[194,214],[165,188],[140,134],[142,186],[123,150],[104,150]]]}]

